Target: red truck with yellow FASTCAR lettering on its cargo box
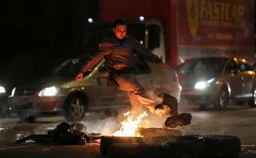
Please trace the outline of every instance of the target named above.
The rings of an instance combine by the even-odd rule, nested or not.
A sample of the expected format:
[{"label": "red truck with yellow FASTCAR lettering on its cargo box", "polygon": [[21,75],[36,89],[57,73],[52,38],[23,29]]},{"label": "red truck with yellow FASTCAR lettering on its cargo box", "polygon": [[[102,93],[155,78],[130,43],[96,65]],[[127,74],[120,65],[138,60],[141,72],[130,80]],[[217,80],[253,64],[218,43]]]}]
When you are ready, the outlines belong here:
[{"label": "red truck with yellow FASTCAR lettering on its cargo box", "polygon": [[254,0],[99,0],[99,20],[128,22],[127,34],[174,68],[199,56],[254,64]]}]

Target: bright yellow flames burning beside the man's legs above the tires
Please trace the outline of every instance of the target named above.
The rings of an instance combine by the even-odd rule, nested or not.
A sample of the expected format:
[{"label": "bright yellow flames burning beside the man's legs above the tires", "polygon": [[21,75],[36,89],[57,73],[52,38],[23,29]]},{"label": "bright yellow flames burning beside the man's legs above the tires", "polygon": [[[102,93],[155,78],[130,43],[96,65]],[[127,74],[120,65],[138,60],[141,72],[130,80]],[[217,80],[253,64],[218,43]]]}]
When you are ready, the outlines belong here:
[{"label": "bright yellow flames burning beside the man's legs above the tires", "polygon": [[146,117],[147,113],[144,111],[143,114],[139,115],[137,117],[137,120],[133,121],[133,116],[130,116],[130,111],[127,113],[124,113],[126,120],[121,122],[122,127],[119,131],[114,132],[111,136],[136,136],[135,130],[138,128],[138,124],[141,123],[141,118]]}]

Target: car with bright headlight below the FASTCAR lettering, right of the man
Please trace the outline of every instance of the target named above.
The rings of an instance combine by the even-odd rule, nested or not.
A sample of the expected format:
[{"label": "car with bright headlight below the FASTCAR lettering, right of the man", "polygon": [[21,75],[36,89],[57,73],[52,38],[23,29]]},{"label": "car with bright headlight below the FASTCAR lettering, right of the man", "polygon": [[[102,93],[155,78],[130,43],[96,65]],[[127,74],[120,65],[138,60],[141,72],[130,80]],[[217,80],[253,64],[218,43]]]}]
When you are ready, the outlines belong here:
[{"label": "car with bright headlight below the FASTCAR lettering, right of the man", "polygon": [[256,107],[256,76],[252,66],[239,57],[198,57],[178,65],[181,97],[206,109],[223,109],[229,103],[247,102]]}]

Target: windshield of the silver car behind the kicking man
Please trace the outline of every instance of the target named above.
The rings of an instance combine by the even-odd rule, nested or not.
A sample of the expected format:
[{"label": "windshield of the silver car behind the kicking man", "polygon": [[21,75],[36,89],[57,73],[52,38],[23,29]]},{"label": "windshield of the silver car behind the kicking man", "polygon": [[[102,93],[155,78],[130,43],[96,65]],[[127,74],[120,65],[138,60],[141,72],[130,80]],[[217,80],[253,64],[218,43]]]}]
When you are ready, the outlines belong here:
[{"label": "windshield of the silver car behind the kicking man", "polygon": [[[75,77],[75,75],[81,69],[82,64],[86,61],[85,59],[75,58],[66,60],[64,63],[60,64],[55,68],[49,76],[65,76],[65,77]],[[85,72],[86,76],[89,72]]]}]

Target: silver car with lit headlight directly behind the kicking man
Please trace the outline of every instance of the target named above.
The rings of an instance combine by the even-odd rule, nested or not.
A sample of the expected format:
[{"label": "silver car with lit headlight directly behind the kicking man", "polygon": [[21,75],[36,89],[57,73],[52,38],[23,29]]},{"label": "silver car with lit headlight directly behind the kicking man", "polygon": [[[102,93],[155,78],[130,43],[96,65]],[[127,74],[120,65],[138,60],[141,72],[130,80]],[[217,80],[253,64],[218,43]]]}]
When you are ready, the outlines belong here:
[{"label": "silver car with lit headlight directly behind the kicking man", "polygon": [[[81,81],[74,81],[85,60],[86,57],[67,60],[47,76],[17,85],[9,99],[11,108],[19,118],[31,122],[38,115],[52,113],[62,113],[69,121],[79,121],[87,111],[130,106],[126,92],[107,86],[105,60],[86,72]],[[174,69],[163,72],[157,64],[139,57],[137,68],[138,78],[146,90],[153,90],[156,95],[168,93],[179,101],[181,85]]]}]

